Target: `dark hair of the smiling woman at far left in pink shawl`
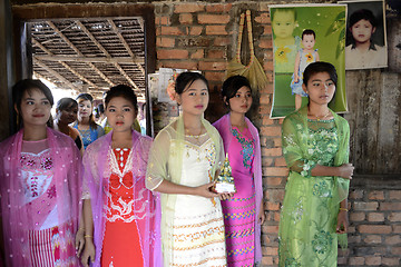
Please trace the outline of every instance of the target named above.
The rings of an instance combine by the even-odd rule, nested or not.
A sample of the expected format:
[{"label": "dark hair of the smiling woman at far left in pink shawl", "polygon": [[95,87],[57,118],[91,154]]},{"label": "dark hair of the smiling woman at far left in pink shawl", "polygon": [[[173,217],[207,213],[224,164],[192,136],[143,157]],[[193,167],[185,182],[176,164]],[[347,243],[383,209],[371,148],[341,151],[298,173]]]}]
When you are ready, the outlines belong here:
[{"label": "dark hair of the smiling woman at far left in pink shawl", "polygon": [[[39,91],[41,91],[45,97],[47,98],[47,100],[49,100],[50,106],[52,107],[55,103],[55,99],[52,97],[52,93],[50,91],[50,89],[40,80],[33,80],[33,79],[25,79],[25,80],[20,80],[18,81],[13,87],[12,87],[12,103],[17,107],[18,112],[18,127],[22,126],[22,117],[21,117],[21,101],[22,101],[22,96],[23,93],[27,91],[28,93],[30,93],[32,90],[38,89]],[[47,126],[52,127],[52,118],[50,115],[50,118],[47,122]]]}]

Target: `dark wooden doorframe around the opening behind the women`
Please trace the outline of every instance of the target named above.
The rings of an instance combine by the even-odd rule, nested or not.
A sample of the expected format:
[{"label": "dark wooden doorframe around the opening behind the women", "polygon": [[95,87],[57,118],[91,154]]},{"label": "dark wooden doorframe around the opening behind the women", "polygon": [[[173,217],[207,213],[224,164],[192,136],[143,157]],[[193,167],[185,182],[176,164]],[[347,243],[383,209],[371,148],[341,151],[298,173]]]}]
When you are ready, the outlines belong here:
[{"label": "dark wooden doorframe around the opening behind the women", "polygon": [[146,129],[153,136],[151,100],[147,85],[147,75],[156,69],[156,28],[155,7],[149,3],[40,3],[12,7],[13,41],[16,49],[17,80],[32,77],[32,52],[30,36],[26,22],[30,20],[101,18],[101,17],[141,17],[145,30],[145,98]]}]

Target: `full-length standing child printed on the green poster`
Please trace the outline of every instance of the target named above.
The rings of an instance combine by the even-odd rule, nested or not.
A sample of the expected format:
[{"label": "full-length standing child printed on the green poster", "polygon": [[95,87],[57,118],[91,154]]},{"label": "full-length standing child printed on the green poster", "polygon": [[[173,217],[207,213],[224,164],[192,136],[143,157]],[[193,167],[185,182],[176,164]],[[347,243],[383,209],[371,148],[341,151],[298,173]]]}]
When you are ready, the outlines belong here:
[{"label": "full-length standing child printed on the green poster", "polygon": [[307,97],[307,93],[302,88],[303,72],[310,63],[319,61],[317,49],[313,49],[316,42],[315,38],[316,33],[311,29],[302,32],[303,48],[296,53],[294,73],[290,86],[292,95],[295,95],[295,109],[301,108],[302,97]]}]

